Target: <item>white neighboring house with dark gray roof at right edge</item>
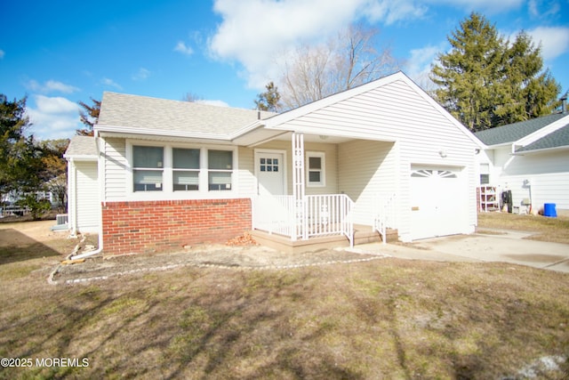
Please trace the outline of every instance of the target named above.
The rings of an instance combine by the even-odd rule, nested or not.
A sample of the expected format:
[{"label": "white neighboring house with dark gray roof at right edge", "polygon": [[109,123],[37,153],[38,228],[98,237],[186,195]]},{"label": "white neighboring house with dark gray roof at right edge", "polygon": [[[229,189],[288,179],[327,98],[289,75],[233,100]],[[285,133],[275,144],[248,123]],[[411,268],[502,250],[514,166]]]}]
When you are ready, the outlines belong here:
[{"label": "white neighboring house with dark gray roof at right edge", "polygon": [[499,195],[511,190],[513,206],[522,209],[553,203],[557,212],[569,212],[569,113],[475,134],[487,146],[478,156],[481,185],[495,186]]}]

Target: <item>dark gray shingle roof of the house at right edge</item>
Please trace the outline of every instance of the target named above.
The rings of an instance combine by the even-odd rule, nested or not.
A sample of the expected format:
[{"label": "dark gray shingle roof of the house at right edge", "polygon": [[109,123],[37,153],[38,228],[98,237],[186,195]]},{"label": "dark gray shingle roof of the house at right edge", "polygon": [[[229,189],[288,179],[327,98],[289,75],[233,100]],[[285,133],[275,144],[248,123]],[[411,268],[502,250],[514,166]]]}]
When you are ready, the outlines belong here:
[{"label": "dark gray shingle roof of the house at right edge", "polygon": [[497,126],[474,134],[478,139],[480,139],[480,141],[489,146],[514,142],[568,115],[569,114],[567,113],[558,113],[544,117],[537,117],[531,120],[521,121],[519,123]]}]

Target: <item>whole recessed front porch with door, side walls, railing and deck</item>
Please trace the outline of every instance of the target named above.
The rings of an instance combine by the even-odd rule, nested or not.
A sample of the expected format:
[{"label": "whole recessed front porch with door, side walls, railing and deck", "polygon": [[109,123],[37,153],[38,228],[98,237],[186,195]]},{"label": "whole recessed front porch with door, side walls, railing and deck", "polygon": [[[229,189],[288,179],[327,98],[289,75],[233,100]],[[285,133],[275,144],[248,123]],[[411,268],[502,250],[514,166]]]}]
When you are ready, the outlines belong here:
[{"label": "whole recessed front porch with door, side walls, railing and deck", "polygon": [[397,239],[396,197],[389,192],[396,187],[393,142],[309,136],[305,144],[303,133],[286,137],[290,150],[275,150],[276,141],[254,150],[255,239],[295,252],[385,243],[389,230]]}]

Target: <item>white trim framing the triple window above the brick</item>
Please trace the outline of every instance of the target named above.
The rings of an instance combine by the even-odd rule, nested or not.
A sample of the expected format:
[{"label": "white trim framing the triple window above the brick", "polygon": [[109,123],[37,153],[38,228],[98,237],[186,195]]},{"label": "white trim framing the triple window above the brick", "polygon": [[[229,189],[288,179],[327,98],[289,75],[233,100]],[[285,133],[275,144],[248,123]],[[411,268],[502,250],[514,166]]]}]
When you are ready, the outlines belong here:
[{"label": "white trim framing the triple window above the brick", "polygon": [[[163,182],[159,191],[134,191],[133,182],[133,146],[148,146],[164,148]],[[196,149],[200,151],[200,168],[198,170],[198,190],[173,190],[173,149]],[[232,152],[231,189],[209,190],[208,150],[228,150]],[[216,144],[188,144],[162,141],[141,141],[125,139],[125,194],[129,200],[176,200],[176,199],[216,199],[236,198],[238,193],[238,147]]]}]

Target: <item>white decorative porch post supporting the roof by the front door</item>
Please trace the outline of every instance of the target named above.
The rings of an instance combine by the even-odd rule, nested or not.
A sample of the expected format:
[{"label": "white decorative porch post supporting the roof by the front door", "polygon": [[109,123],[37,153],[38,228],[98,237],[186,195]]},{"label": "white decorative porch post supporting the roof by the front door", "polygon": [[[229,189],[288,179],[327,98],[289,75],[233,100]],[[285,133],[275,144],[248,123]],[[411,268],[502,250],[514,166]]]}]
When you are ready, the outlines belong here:
[{"label": "white decorative porch post supporting the roof by the front door", "polygon": [[304,134],[293,133],[293,198],[294,226],[293,240],[299,236],[308,239],[308,221],[304,202]]}]

